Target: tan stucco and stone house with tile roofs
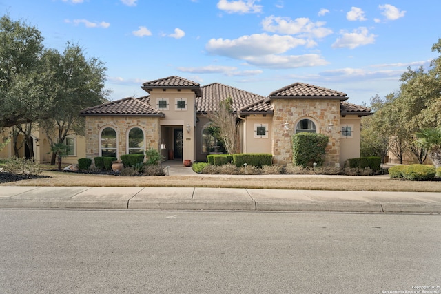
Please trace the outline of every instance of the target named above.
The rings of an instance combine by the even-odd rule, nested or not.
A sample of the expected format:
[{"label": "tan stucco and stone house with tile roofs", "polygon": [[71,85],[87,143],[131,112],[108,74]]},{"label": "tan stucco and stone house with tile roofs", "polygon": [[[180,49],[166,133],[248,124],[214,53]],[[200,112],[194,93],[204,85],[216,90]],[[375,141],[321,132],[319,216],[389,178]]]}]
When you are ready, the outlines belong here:
[{"label": "tan stucco and stone house with tile roofs", "polygon": [[361,117],[371,109],[345,102],[347,95],[294,83],[264,97],[220,83],[202,86],[178,76],[143,83],[148,96],[125,98],[81,111],[86,119],[85,156],[114,156],[161,149],[164,158],[207,160],[217,150],[206,114],[232,98],[243,153],[269,153],[274,164],[292,162],[297,132],[329,136],[325,165],[360,156]]}]

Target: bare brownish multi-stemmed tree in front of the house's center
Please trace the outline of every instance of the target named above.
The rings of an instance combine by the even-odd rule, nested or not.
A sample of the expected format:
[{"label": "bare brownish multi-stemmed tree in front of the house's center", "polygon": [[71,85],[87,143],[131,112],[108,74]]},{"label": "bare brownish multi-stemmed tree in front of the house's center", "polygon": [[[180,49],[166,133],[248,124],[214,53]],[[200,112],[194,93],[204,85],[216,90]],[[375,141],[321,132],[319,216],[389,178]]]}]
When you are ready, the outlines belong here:
[{"label": "bare brownish multi-stemmed tree in front of the house's center", "polygon": [[231,111],[232,98],[220,101],[218,111],[208,114],[216,127],[219,127],[219,136],[228,154],[239,151],[239,134],[237,129],[237,114]]}]

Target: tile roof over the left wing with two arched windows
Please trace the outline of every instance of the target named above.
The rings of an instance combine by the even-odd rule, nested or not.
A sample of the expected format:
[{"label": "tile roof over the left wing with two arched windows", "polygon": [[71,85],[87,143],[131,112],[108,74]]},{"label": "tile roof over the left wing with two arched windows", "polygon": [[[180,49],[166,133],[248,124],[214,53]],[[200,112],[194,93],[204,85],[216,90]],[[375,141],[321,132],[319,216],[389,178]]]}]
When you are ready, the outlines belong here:
[{"label": "tile roof over the left wing with two arched windows", "polygon": [[150,97],[139,98],[128,97],[118,101],[112,101],[102,105],[97,105],[84,109],[80,112],[81,116],[99,115],[141,115],[141,116],[164,116],[164,114],[150,105]]}]

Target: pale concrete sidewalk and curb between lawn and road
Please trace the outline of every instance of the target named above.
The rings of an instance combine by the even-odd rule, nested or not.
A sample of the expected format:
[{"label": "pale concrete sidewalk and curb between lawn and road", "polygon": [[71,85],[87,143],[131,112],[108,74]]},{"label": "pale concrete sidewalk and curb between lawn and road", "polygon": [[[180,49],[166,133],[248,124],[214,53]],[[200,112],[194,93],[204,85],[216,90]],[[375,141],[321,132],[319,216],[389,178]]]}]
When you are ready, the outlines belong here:
[{"label": "pale concrete sidewalk and curb between lawn and road", "polygon": [[441,193],[1,186],[1,208],[441,213]]}]

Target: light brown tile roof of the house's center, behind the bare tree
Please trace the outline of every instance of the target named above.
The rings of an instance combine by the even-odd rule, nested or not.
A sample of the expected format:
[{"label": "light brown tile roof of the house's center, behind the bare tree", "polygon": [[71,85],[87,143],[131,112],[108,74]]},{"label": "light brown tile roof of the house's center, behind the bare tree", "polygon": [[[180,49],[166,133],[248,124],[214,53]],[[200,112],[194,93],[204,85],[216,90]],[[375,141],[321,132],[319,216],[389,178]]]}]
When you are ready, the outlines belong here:
[{"label": "light brown tile roof of the house's center, behind the bare tree", "polygon": [[[213,112],[218,109],[219,102],[228,97],[233,100],[232,111],[238,112],[247,105],[263,101],[264,96],[240,90],[236,87],[212,83],[201,87],[202,96],[196,101],[196,112]],[[262,106],[263,107],[263,106]]]}]

